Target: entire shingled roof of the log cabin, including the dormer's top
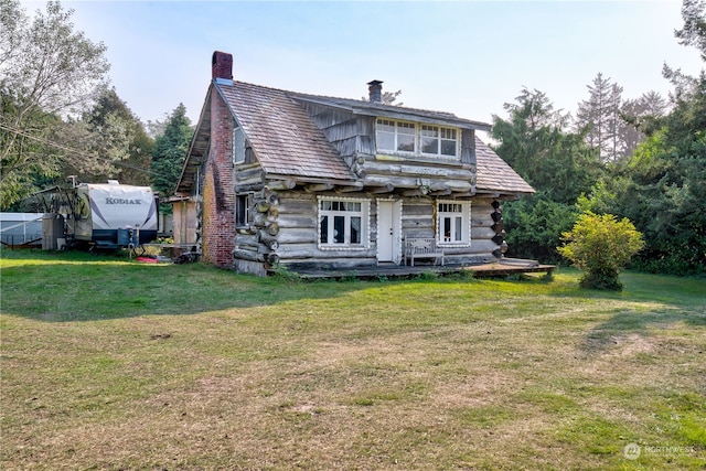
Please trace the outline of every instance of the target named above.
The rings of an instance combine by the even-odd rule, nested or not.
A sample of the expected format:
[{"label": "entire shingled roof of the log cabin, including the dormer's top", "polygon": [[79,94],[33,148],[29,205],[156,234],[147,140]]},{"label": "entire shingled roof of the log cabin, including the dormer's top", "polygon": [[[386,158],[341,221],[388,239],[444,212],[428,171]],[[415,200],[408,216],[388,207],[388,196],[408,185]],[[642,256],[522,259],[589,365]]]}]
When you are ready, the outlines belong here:
[{"label": "entire shingled roof of the log cabin, including the dormer's top", "polygon": [[[323,131],[314,125],[311,117],[296,100],[345,107],[364,115],[404,114],[429,120],[443,120],[463,128],[490,129],[486,124],[457,118],[448,113],[297,94],[243,82],[215,81],[213,86],[243,127],[263,170],[270,178],[291,175],[310,181],[327,179],[350,182],[355,180],[355,175],[333,144],[327,140]],[[210,105],[210,95],[211,90],[206,96],[204,110]],[[192,142],[189,159],[178,184],[178,192],[189,191],[193,184],[192,173],[205,157],[203,152],[207,148],[211,122],[204,117],[210,118],[210,113],[202,113],[196,133],[203,136],[200,140],[195,139],[195,143]],[[475,154],[478,192],[534,193],[534,189],[478,137],[475,138]]]}]

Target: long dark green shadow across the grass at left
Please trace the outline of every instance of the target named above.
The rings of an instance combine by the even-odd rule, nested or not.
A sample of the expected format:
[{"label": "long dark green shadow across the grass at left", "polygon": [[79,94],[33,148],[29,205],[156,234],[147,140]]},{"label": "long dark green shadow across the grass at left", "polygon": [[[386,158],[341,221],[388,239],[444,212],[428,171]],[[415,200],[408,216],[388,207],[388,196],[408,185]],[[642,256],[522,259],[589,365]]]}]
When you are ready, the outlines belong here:
[{"label": "long dark green shadow across the grass at left", "polygon": [[2,263],[2,313],[46,322],[265,307],[336,298],[371,285],[259,278],[204,264],[140,264],[82,253],[3,253]]}]

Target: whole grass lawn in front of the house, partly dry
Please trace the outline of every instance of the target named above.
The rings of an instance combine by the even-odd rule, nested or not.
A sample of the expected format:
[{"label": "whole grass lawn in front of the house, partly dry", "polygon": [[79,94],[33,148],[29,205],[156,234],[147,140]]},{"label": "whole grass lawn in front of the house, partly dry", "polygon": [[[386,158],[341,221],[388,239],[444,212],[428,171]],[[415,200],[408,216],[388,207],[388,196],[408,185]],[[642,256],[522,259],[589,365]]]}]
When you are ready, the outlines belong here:
[{"label": "whole grass lawn in front of the house, partly dry", "polygon": [[706,468],[704,279],[0,264],[4,470]]}]

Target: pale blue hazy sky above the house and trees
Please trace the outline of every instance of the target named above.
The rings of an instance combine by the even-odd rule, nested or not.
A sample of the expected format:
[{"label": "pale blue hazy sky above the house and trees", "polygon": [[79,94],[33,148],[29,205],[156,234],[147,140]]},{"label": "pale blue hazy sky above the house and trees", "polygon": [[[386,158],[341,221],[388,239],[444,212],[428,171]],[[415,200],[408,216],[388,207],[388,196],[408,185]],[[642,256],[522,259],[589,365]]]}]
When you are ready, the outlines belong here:
[{"label": "pale blue hazy sky above the house and trees", "polygon": [[[28,12],[44,2],[23,1]],[[623,99],[667,96],[664,63],[696,74],[678,44],[681,1],[63,1],[107,46],[118,96],[143,122],[180,103],[196,122],[214,51],[236,81],[345,98],[366,83],[404,106],[492,122],[523,87],[575,113],[598,73]]]}]

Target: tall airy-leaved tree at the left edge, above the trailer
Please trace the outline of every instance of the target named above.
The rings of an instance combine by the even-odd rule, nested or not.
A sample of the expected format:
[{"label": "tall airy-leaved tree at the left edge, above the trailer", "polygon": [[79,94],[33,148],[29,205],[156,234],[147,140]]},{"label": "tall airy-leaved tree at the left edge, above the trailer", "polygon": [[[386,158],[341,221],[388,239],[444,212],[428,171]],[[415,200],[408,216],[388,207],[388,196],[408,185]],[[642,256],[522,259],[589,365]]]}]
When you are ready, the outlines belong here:
[{"label": "tall airy-leaved tree at the left edge, above the trailer", "polygon": [[[58,174],[76,152],[63,118],[79,116],[105,87],[106,47],[74,30],[73,10],[46,3],[33,20],[17,0],[0,0],[0,205],[30,193],[35,176]],[[94,159],[98,165],[100,159]],[[105,163],[105,161],[103,161]],[[89,165],[90,167],[90,165]]]}]

